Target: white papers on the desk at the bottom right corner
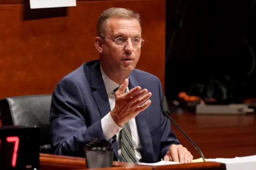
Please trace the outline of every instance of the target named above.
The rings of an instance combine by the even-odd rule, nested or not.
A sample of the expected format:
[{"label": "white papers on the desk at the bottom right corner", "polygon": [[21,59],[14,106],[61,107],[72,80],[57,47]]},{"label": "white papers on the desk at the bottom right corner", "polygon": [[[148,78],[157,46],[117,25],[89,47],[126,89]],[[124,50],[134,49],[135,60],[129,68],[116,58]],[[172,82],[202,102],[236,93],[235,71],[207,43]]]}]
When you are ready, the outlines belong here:
[{"label": "white papers on the desk at the bottom right corner", "polygon": [[208,159],[211,162],[226,164],[226,170],[256,170],[256,155],[236,158]]}]

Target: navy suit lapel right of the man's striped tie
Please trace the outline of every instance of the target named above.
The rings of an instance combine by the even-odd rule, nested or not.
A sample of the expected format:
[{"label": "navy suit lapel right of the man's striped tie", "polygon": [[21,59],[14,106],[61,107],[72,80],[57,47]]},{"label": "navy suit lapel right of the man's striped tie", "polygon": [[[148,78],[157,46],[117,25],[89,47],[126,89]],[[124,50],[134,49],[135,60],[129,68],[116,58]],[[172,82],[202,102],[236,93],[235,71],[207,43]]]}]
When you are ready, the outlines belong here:
[{"label": "navy suit lapel right of the man's striped tie", "polygon": [[[129,89],[133,89],[134,87],[138,86],[138,82],[136,79],[130,74],[129,76]],[[136,117],[136,126],[138,129],[138,135],[140,138],[140,144],[142,146],[142,156],[143,162],[154,162],[153,160],[153,144],[148,128],[148,124],[146,121],[146,112],[147,109],[140,112]]]}]

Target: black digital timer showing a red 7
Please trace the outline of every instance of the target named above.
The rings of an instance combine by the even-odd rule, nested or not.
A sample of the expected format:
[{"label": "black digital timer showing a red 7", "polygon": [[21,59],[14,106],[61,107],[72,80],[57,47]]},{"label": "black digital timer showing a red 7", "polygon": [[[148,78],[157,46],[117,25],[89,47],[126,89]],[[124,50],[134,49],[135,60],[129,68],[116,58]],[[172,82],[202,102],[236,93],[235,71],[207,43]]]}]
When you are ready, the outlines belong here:
[{"label": "black digital timer showing a red 7", "polygon": [[40,128],[0,127],[0,169],[39,169]]}]

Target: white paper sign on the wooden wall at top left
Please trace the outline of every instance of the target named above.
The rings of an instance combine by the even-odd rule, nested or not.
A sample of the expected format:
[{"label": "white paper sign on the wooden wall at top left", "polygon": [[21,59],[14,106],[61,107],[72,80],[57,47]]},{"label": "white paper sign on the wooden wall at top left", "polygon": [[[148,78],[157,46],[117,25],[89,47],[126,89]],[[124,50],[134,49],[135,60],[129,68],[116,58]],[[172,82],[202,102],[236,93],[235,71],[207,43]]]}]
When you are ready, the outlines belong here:
[{"label": "white paper sign on the wooden wall at top left", "polygon": [[76,6],[76,0],[30,0],[30,8],[58,8]]}]

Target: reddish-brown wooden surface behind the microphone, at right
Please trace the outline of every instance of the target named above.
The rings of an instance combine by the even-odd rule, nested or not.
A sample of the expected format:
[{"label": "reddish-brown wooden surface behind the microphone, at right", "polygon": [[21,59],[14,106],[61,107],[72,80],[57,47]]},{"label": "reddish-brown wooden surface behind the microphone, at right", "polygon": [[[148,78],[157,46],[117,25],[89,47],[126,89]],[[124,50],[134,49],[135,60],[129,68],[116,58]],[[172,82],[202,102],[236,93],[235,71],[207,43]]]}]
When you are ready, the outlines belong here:
[{"label": "reddish-brown wooden surface behind the microphone, at right", "polygon": [[[196,115],[171,114],[188,136],[202,150],[205,158],[233,158],[256,154],[256,114],[251,115]],[[194,159],[200,158],[188,139],[171,124],[180,142]]]}]

